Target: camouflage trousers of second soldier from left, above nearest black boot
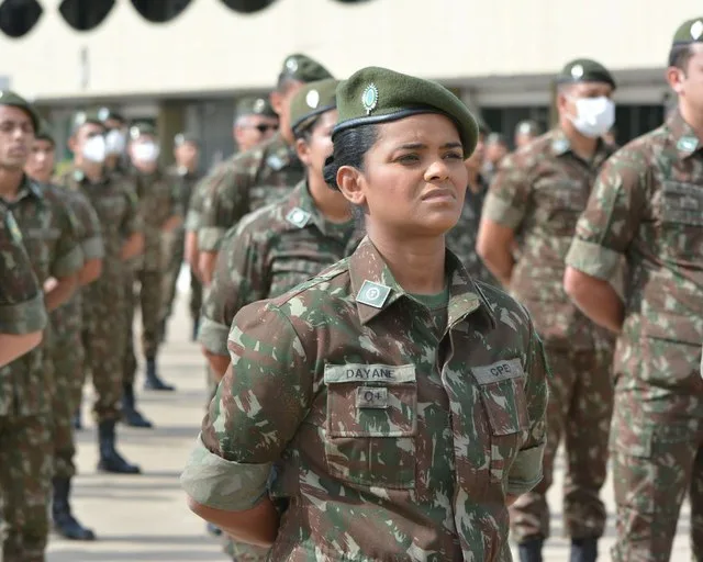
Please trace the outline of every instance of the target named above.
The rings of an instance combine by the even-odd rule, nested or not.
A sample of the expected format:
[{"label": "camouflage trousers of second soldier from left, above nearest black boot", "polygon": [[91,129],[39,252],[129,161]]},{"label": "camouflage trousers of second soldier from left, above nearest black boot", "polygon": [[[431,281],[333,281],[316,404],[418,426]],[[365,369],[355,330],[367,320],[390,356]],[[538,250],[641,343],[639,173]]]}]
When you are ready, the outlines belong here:
[{"label": "camouflage trousers of second soldier from left, above nearest black boot", "polygon": [[70,479],[76,474],[72,417],[80,406],[85,382],[83,346],[80,330],[57,326],[52,349],[54,363],[54,475]]}]

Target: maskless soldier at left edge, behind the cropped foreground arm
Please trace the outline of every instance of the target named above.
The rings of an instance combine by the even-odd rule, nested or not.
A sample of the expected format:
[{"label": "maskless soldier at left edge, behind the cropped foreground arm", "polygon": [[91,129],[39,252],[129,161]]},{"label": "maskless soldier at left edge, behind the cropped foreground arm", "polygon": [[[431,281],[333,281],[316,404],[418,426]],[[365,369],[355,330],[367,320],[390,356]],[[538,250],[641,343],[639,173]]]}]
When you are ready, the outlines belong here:
[{"label": "maskless soldier at left edge, behind the cropped foreground arm", "polygon": [[[44,289],[44,305],[52,312],[75,291],[82,254],[76,220],[66,200],[55,188],[42,186],[24,173],[38,127],[40,120],[25,100],[7,90],[0,92],[0,205],[16,217],[34,274]],[[54,471],[53,336],[49,324],[41,347],[0,370],[5,562],[44,560]]]}]

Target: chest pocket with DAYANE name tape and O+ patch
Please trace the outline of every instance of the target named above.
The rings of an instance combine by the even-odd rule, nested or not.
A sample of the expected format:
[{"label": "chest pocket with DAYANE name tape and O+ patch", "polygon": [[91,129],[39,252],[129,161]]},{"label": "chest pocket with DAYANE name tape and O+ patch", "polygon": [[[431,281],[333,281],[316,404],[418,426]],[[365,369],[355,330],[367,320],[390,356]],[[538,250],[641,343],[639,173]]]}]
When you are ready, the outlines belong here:
[{"label": "chest pocket with DAYANE name tape and O+ patch", "polygon": [[325,366],[325,462],[331,475],[364,486],[415,486],[415,367]]}]

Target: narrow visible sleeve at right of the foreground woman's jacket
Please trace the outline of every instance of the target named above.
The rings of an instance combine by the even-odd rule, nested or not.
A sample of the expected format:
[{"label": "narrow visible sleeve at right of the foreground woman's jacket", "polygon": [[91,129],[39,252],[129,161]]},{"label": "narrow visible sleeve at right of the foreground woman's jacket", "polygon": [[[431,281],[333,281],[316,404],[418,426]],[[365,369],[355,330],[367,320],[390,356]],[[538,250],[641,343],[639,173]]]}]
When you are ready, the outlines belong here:
[{"label": "narrow visible sleeve at right of the foreground woman's jacket", "polygon": [[[525,315],[529,313],[523,307]],[[524,494],[535,487],[542,480],[542,460],[547,442],[547,402],[550,376],[549,366],[545,357],[544,346],[529,319],[527,341],[527,360],[525,364],[525,398],[529,418],[527,440],[517,452],[507,474],[507,493]]]}]

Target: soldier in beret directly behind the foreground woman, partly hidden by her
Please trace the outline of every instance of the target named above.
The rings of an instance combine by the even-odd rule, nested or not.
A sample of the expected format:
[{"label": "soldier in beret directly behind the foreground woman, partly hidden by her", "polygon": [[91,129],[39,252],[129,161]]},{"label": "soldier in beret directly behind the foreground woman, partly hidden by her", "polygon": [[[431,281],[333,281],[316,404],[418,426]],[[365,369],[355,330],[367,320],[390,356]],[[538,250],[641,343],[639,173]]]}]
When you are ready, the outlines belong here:
[{"label": "soldier in beret directly behind the foreground woman, partly hidden by her", "polygon": [[[217,380],[230,364],[227,335],[245,305],[278,296],[354,251],[360,241],[347,200],[322,175],[332,154],[338,81],[305,85],[291,123],[305,179],[291,194],[245,217],[223,240],[200,322],[199,340]],[[234,560],[266,560],[268,549],[230,542]]]}]

